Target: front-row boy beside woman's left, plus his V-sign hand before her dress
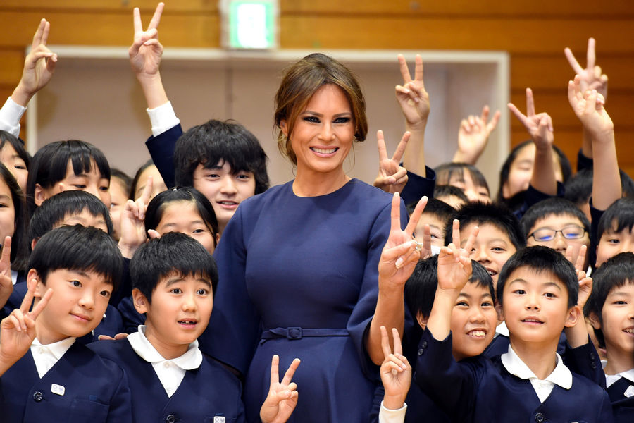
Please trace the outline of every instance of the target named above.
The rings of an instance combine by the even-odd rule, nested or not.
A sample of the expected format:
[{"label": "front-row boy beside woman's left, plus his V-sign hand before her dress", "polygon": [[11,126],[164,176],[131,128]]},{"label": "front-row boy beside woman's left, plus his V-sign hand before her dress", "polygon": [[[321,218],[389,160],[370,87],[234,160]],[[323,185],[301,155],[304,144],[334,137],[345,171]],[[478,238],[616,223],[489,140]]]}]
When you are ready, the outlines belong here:
[{"label": "front-row boy beside woman's left, plus his V-sign hand before her dress", "polygon": [[[130,273],[134,305],[147,315],[145,325],[126,339],[99,341],[90,348],[118,362],[128,374],[132,420],[244,421],[240,381],[198,349],[197,338],[209,322],[218,284],[209,252],[187,235],[166,233],[139,247]],[[278,396],[267,399],[263,408],[283,400],[292,411],[297,391],[290,378],[298,364],[293,363],[277,388]]]}]

